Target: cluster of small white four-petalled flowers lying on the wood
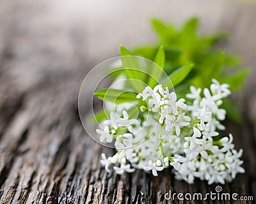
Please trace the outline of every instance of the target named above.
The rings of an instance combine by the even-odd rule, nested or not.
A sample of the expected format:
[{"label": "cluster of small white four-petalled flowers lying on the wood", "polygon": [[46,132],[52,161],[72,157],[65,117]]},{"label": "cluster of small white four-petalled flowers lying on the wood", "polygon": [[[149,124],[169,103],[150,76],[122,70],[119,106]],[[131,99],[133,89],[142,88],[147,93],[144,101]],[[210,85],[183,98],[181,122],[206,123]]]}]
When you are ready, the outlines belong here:
[{"label": "cluster of small white four-petalled flowers lying on the wood", "polygon": [[210,89],[196,89],[185,99],[177,100],[175,92],[161,85],[154,89],[146,87],[138,94],[146,106],[141,106],[140,117],[129,119],[126,111],[119,117],[111,112],[110,119],[103,122],[104,130],[97,129],[100,142],[115,141],[116,154],[102,154],[100,163],[118,174],[132,172],[134,168],[162,171],[173,166],[177,179],[193,184],[195,178],[224,184],[244,173],[240,157],[243,150],[234,149],[233,136],[221,137],[225,129],[221,120],[226,112],[220,108],[222,99],[230,94],[228,84],[212,80]]}]

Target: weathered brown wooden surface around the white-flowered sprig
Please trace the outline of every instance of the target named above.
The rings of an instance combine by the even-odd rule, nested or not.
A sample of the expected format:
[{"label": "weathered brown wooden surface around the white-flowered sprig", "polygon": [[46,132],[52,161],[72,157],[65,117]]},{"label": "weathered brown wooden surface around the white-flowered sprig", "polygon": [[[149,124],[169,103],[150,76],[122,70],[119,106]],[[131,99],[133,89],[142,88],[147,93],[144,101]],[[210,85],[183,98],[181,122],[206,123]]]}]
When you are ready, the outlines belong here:
[{"label": "weathered brown wooden surface around the white-flowered sprig", "polygon": [[[215,191],[216,185],[205,182],[188,185],[174,180],[170,169],[159,177],[140,170],[121,176],[106,173],[99,155],[113,150],[86,135],[77,112],[79,87],[92,66],[117,55],[119,43],[129,47],[152,41],[148,27],[140,26],[147,24],[150,15],[180,24],[195,14],[202,18],[203,33],[227,30],[230,41],[220,46],[242,55],[252,70],[246,89],[235,97],[244,121],[226,122],[236,149],[244,148],[246,173],[221,186],[223,192],[254,196],[255,201],[256,5],[163,1],[142,11],[147,1],[141,2],[125,21],[135,1],[127,5],[88,1],[83,9],[67,1],[1,1],[0,203],[198,203],[166,201],[164,194]],[[98,6],[95,13],[93,6]],[[109,11],[100,14],[105,7]],[[138,22],[140,17],[145,22]],[[109,19],[113,21],[108,24]],[[118,31],[115,26],[120,26]],[[117,31],[116,38],[109,34],[111,30]]]}]

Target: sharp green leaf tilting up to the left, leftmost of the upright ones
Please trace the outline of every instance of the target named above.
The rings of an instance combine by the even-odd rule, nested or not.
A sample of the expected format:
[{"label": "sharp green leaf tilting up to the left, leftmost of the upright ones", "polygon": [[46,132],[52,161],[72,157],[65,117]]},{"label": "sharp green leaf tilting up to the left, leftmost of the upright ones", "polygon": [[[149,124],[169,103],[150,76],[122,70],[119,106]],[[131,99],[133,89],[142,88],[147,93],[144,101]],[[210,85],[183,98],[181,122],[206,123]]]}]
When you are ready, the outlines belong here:
[{"label": "sharp green leaf tilting up to the left, leftmost of the upright ones", "polygon": [[[132,57],[131,52],[129,52],[124,46],[120,46],[120,55],[122,56],[124,72],[127,75],[129,82],[131,82],[132,88],[134,91],[141,92],[143,91],[143,78],[141,77],[140,66],[136,61],[136,57]],[[128,57],[125,57],[128,56]],[[131,56],[131,57],[129,57]],[[139,82],[138,82],[139,81]]]}]

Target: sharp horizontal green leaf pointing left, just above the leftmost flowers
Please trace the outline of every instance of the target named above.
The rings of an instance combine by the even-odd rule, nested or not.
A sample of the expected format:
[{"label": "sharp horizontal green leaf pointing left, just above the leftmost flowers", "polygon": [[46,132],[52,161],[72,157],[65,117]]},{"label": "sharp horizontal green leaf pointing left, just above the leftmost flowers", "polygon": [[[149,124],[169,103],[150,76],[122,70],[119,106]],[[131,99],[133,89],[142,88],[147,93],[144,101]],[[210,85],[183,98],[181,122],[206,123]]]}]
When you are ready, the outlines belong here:
[{"label": "sharp horizontal green leaf pointing left, just above the leftmost flowers", "polygon": [[117,89],[101,89],[94,93],[102,101],[110,101],[112,103],[125,103],[136,101],[137,94],[132,91],[122,91]]}]

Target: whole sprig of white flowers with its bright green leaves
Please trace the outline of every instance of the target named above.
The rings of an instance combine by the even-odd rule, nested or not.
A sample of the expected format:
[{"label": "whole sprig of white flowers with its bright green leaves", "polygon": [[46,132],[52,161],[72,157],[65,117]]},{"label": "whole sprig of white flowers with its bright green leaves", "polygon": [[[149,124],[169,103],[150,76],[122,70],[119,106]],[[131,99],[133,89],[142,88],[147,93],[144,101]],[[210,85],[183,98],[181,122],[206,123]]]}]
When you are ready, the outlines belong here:
[{"label": "whole sprig of white flowers with its bright green leaves", "polygon": [[241,87],[248,70],[227,70],[239,60],[214,46],[223,35],[200,35],[197,24],[191,18],[177,28],[153,19],[154,45],[132,52],[120,47],[120,59],[111,69],[116,71],[114,87],[95,92],[115,105],[96,117],[100,142],[116,149],[111,157],[102,154],[106,171],[122,174],[138,168],[157,176],[170,167],[189,184],[195,178],[223,184],[244,173],[243,150],[234,149],[232,134],[221,131],[226,116],[241,120],[227,97]]}]

